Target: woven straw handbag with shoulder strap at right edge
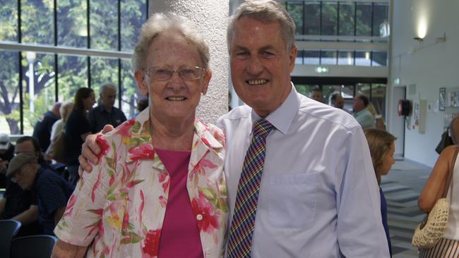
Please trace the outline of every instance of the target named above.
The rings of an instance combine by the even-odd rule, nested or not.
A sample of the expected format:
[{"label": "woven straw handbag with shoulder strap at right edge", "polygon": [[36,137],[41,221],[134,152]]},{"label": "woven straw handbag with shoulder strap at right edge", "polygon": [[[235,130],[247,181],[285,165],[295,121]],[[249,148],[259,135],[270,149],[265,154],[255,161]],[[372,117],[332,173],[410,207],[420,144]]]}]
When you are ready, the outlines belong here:
[{"label": "woven straw handbag with shoulder strap at right edge", "polygon": [[415,247],[431,248],[434,247],[441,238],[443,238],[449,214],[449,202],[448,199],[446,199],[446,195],[448,195],[448,189],[453,178],[454,164],[455,159],[458,156],[458,150],[458,148],[455,149],[453,166],[451,166],[449,170],[448,181],[446,181],[446,187],[443,190],[443,195],[441,195],[441,198],[436,201],[434,207],[424,218],[424,221],[419,223],[415,229],[415,235],[413,235],[411,241],[412,245]]}]

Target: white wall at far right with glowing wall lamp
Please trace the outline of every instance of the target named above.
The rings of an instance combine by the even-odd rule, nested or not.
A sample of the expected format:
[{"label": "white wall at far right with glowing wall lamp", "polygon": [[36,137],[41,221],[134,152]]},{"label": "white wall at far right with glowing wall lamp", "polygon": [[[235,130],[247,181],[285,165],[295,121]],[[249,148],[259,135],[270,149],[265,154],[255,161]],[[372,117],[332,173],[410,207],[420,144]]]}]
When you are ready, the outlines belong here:
[{"label": "white wall at far right with glowing wall lamp", "polygon": [[[459,1],[393,0],[391,4],[393,42],[388,81],[400,78],[400,85],[407,86],[407,99],[426,99],[434,104],[439,99],[439,87],[459,87]],[[413,37],[418,36],[417,27],[422,20],[427,34],[423,42],[417,42]],[[437,42],[443,32],[446,42]],[[409,85],[413,84],[416,91],[410,94]],[[438,157],[434,149],[443,133],[443,114],[427,111],[424,134],[406,128],[406,159],[434,166]]]}]

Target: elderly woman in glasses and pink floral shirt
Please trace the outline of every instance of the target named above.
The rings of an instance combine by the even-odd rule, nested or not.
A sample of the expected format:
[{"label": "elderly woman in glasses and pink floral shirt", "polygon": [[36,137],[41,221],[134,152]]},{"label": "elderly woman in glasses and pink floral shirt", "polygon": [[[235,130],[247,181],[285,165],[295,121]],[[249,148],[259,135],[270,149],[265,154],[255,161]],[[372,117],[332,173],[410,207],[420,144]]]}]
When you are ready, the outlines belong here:
[{"label": "elderly woman in glasses and pink floral shirt", "polygon": [[185,18],[155,14],[133,55],[150,106],[107,135],[54,233],[54,257],[220,257],[227,223],[225,137],[195,118],[211,73]]}]

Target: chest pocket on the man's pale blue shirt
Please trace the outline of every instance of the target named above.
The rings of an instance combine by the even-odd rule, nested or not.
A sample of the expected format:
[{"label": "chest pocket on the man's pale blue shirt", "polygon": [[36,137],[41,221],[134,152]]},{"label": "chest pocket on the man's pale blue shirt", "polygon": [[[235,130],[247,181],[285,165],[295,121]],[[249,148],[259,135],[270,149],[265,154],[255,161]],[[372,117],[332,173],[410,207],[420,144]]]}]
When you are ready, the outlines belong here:
[{"label": "chest pocket on the man's pale blue shirt", "polygon": [[268,217],[278,228],[305,228],[316,215],[316,173],[273,176],[269,180]]}]

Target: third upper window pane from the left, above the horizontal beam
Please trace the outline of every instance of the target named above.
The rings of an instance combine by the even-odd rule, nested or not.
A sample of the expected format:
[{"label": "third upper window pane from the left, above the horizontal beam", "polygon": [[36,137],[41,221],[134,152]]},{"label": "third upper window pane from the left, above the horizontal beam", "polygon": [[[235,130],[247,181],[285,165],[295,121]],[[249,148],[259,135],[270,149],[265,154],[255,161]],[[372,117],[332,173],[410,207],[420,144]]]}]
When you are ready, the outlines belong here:
[{"label": "third upper window pane from the left, above the horizontal beam", "polygon": [[86,0],[57,1],[57,44],[88,46],[87,10]]}]

